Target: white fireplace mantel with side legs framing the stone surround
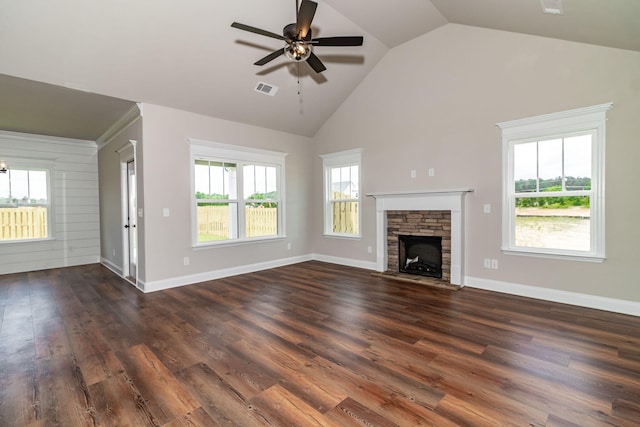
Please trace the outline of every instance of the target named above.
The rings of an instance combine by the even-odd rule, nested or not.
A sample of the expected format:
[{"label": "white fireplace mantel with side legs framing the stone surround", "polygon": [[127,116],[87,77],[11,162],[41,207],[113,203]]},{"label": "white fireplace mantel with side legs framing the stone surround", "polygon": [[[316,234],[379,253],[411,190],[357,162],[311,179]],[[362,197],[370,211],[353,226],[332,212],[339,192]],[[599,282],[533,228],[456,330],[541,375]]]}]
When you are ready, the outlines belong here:
[{"label": "white fireplace mantel with side legs framing the stone surround", "polygon": [[451,212],[451,283],[463,286],[464,196],[471,188],[368,193],[376,199],[376,270],[387,269],[386,211],[424,210]]}]

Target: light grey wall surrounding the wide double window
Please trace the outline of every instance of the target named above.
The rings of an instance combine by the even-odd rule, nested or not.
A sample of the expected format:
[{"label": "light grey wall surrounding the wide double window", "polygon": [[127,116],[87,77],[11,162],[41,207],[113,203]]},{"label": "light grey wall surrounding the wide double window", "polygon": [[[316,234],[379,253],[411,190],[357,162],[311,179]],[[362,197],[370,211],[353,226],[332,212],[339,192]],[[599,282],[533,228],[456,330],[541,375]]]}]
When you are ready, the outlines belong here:
[{"label": "light grey wall surrounding the wide double window", "polygon": [[[152,104],[142,111],[145,291],[295,262],[310,253],[309,138]],[[192,248],[189,138],[288,153],[285,239]]]}]

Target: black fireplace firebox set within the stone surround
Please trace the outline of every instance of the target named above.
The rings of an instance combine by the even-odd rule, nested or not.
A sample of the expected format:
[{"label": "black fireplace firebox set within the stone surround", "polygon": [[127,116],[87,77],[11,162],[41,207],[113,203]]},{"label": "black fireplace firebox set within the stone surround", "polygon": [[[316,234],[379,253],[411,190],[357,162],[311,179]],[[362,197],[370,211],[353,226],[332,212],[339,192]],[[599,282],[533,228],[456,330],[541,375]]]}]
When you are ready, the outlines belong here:
[{"label": "black fireplace firebox set within the stone surround", "polygon": [[442,237],[399,235],[398,271],[442,278]]}]

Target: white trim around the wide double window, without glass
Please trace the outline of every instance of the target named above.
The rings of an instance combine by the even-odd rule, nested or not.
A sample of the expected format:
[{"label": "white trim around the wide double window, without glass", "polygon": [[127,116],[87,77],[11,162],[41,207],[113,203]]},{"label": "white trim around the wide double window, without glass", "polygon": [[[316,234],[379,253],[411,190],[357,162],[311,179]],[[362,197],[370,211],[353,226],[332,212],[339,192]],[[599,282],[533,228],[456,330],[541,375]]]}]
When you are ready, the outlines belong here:
[{"label": "white trim around the wide double window, without glass", "polygon": [[[286,238],[286,225],[285,225],[285,159],[288,153],[280,151],[262,150],[259,148],[243,147],[239,145],[221,144],[217,142],[203,141],[199,139],[189,138],[187,140],[190,146],[190,181],[191,181],[191,245],[193,248],[207,248],[207,247],[219,247],[230,246],[237,244],[246,244],[261,242],[266,240],[278,240]],[[266,237],[251,237],[251,238],[238,238],[230,240],[221,240],[215,242],[198,242],[198,217],[196,210],[196,190],[195,190],[195,161],[198,158],[206,157],[208,159],[215,159],[220,161],[226,161],[230,163],[235,162],[249,162],[254,164],[264,164],[278,166],[277,182],[278,195],[279,195],[279,209],[278,209],[278,234],[276,236]],[[240,183],[241,185],[241,183]],[[240,210],[239,210],[240,211]],[[238,221],[244,221],[244,212],[239,212]]]}]

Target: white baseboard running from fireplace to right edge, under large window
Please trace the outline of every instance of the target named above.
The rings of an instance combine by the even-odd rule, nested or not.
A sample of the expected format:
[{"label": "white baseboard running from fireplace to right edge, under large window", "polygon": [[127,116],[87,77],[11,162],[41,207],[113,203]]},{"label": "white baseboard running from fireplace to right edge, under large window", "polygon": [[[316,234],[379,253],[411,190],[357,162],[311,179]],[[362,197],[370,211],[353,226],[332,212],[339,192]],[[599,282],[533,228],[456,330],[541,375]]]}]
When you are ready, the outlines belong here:
[{"label": "white baseboard running from fireplace to right edge, under large window", "polygon": [[517,283],[500,282],[497,280],[481,279],[478,277],[465,277],[465,286],[484,289],[487,291],[501,292],[521,297],[535,298],[544,301],[553,301],[580,307],[595,308],[614,313],[640,316],[640,302],[625,301],[596,295],[580,294],[576,292],[561,291],[558,289],[541,288],[537,286],[520,285]]}]

